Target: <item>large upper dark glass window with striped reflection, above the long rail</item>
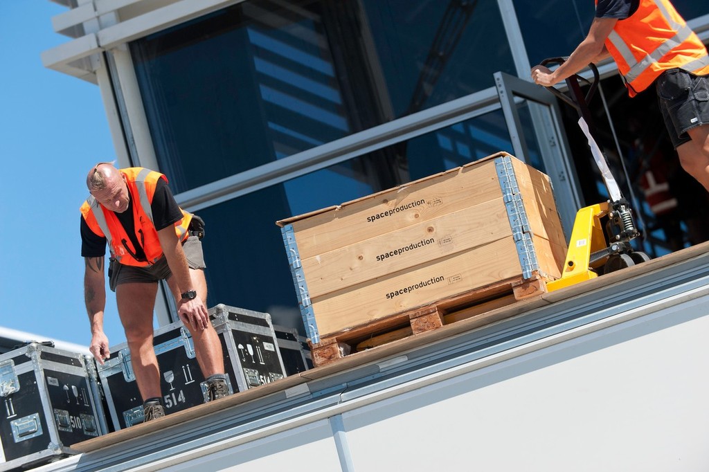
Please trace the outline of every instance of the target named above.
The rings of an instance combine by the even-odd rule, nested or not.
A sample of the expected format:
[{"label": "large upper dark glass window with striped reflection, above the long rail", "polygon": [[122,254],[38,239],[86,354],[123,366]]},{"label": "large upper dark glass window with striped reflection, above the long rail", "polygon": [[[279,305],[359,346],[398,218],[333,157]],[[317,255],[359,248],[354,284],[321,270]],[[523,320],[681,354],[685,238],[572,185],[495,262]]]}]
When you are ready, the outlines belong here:
[{"label": "large upper dark glass window with striped reflection, above the long rail", "polygon": [[493,1],[245,1],[130,51],[176,193],[514,73]]}]

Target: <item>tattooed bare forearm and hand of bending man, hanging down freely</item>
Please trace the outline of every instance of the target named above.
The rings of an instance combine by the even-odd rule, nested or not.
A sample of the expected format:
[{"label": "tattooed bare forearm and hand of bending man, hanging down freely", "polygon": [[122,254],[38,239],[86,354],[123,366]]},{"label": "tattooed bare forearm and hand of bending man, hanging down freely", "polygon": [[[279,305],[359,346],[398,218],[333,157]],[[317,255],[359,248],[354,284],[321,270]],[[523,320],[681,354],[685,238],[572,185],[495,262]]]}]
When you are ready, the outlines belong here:
[{"label": "tattooed bare forearm and hand of bending man, hanging down freely", "polygon": [[104,364],[111,354],[108,337],[104,334],[104,309],[106,308],[106,281],[104,280],[105,257],[84,257],[84,303],[91,325],[89,351],[96,361]]}]

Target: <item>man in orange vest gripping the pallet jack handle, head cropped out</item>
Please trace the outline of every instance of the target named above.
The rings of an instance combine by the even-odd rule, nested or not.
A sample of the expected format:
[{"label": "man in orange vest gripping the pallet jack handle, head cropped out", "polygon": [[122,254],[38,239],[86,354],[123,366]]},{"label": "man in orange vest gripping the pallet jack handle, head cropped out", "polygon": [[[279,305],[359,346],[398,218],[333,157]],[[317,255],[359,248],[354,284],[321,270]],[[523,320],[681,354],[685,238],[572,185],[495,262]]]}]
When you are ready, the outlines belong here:
[{"label": "man in orange vest gripping the pallet jack handle, head cropped out", "polygon": [[591,29],[553,72],[532,67],[552,86],[608,56],[630,96],[653,83],[682,168],[709,191],[709,56],[669,0],[597,0]]}]

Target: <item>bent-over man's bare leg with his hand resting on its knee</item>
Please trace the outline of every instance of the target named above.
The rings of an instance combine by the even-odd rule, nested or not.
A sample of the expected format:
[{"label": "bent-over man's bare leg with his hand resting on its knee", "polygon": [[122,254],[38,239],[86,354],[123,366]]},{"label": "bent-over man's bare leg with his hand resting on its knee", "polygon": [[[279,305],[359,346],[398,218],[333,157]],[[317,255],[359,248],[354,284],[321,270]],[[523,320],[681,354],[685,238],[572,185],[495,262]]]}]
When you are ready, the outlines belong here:
[{"label": "bent-over man's bare leg with his hand resting on its knee", "polygon": [[[204,271],[201,269],[189,269],[189,274],[192,278],[192,285],[197,292],[197,295],[202,300],[207,299],[207,282],[204,277]],[[175,297],[179,301],[180,291],[170,277],[167,279],[167,284]],[[207,378],[215,373],[224,373],[224,354],[222,352],[219,336],[214,327],[209,324],[205,330],[193,330],[191,326],[185,326],[194,341],[194,349],[196,351],[197,363],[202,371],[202,375]]]}]

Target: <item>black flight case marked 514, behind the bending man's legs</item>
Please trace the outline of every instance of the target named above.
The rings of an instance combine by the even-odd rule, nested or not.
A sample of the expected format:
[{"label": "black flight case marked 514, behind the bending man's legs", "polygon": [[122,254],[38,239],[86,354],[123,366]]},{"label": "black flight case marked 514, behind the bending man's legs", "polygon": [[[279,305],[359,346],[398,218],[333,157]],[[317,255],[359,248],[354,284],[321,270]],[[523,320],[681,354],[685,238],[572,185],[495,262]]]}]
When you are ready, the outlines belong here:
[{"label": "black flight case marked 514, behind the bending man's legs", "polygon": [[[230,393],[240,392],[284,377],[271,315],[217,305],[208,310],[221,342]],[[205,378],[199,368],[194,342],[181,321],[155,330],[153,346],[160,365],[160,386],[165,413],[206,402]],[[143,422],[143,400],[135,383],[128,344],[111,348],[111,357],[97,366],[106,396],[111,430]]]}]

